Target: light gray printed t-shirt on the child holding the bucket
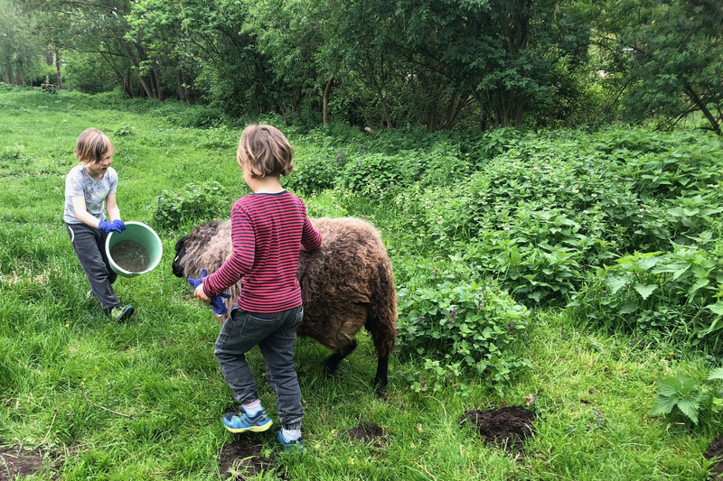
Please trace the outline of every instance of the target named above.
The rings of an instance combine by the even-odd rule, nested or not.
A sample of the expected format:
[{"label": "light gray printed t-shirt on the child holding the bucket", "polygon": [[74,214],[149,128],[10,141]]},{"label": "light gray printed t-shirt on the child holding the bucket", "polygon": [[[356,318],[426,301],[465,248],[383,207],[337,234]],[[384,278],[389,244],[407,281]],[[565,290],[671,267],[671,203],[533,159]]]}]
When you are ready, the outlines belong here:
[{"label": "light gray printed t-shirt on the child holding the bucket", "polygon": [[115,169],[108,167],[103,178],[95,180],[82,165],[76,165],[65,176],[65,212],[63,220],[68,224],[82,224],[75,217],[72,197],[85,198],[85,208],[93,217],[106,219],[106,198],[108,194],[115,194],[118,185],[118,174]]}]

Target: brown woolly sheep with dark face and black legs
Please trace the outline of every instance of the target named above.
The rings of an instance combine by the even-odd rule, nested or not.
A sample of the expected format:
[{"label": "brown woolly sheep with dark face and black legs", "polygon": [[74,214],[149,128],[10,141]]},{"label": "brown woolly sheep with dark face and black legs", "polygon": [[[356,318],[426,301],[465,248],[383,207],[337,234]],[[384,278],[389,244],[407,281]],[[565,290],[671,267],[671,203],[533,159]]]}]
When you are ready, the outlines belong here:
[{"label": "brown woolly sheep with dark face and black legs", "polygon": [[[297,332],[333,351],[326,361],[333,373],[357,346],[354,336],[364,326],[377,351],[377,374],[372,385],[387,384],[389,356],[397,337],[397,292],[389,255],[379,232],[356,218],[314,218],[322,246],[301,252],[296,277],[301,284],[304,321]],[[178,277],[201,277],[202,268],[217,271],[229,257],[230,221],[217,220],[178,240],[173,263]],[[227,291],[227,307],[236,301],[240,282]]]}]

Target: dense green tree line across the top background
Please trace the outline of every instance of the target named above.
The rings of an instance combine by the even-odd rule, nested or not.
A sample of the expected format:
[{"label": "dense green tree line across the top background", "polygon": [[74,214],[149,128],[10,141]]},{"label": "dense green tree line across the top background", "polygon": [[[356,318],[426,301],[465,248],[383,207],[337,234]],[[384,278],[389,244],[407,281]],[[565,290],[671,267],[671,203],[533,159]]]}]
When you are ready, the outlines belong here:
[{"label": "dense green tree line across the top background", "polygon": [[428,130],[694,118],[720,0],[0,0],[0,80]]}]

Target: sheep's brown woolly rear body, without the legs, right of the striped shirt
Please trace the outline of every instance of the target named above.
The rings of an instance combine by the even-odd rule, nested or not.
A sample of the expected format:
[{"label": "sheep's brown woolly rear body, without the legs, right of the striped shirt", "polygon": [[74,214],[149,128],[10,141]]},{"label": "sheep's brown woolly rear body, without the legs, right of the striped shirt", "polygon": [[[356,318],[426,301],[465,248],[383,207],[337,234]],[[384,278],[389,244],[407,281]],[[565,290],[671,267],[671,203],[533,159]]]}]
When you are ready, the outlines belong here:
[{"label": "sheep's brown woolly rear body, without the legs, right of the striped shirt", "polygon": [[304,301],[299,334],[338,351],[366,326],[377,354],[389,355],[397,337],[397,293],[379,232],[357,218],[321,217],[312,224],[322,246],[299,257]]}]

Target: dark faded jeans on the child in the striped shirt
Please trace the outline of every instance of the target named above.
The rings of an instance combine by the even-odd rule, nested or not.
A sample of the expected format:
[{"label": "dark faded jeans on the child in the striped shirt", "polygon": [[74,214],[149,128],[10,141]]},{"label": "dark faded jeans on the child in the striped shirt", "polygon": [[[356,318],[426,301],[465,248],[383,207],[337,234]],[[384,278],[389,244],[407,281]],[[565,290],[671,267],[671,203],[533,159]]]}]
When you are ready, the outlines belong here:
[{"label": "dark faded jeans on the child in the striped shirt", "polygon": [[294,369],[296,328],[304,319],[304,309],[274,313],[248,312],[234,307],[221,327],[214,354],[221,373],[241,404],[258,399],[258,385],[245,354],[257,346],[266,361],[268,383],[277,393],[278,418],[286,430],[301,428],[304,408]]}]

